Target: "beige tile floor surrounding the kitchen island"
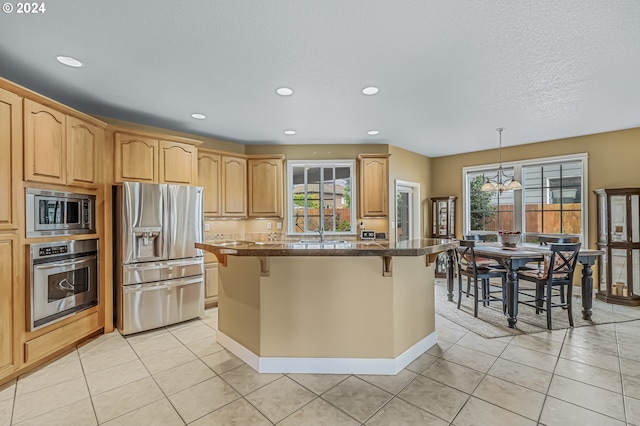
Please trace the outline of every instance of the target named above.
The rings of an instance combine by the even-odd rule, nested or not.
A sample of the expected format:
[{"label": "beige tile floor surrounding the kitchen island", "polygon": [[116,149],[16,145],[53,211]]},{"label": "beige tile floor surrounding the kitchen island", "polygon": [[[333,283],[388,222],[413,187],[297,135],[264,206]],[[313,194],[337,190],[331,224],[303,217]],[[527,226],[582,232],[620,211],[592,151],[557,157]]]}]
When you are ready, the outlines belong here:
[{"label": "beige tile floor surrounding the kitchen island", "polygon": [[436,322],[396,376],[258,374],[216,343],[210,309],[0,386],[0,425],[640,425],[640,320],[498,339]]}]

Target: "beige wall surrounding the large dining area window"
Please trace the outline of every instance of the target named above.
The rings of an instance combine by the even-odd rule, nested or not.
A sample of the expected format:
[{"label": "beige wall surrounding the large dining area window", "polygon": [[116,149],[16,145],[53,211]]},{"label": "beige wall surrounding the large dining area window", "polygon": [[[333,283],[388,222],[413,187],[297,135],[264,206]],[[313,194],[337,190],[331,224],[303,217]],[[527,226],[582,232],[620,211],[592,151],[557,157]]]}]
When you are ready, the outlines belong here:
[{"label": "beige wall surrounding the large dining area window", "polygon": [[[504,162],[586,152],[588,166],[589,247],[596,241],[596,199],[598,188],[640,187],[640,128],[559,139],[502,149]],[[456,224],[462,224],[462,168],[496,163],[498,150],[472,152],[431,159],[431,188],[434,195],[458,197]],[[458,237],[462,226],[456,227]]]}]

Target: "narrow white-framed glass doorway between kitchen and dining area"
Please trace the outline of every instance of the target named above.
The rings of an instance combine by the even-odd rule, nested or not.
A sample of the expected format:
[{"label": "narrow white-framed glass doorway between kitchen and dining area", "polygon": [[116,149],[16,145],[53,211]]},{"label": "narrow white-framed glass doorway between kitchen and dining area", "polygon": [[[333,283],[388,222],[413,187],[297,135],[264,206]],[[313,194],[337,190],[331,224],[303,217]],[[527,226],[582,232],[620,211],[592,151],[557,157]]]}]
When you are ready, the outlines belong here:
[{"label": "narrow white-framed glass doorway between kitchen and dining area", "polygon": [[396,180],[396,242],[420,237],[420,184]]}]

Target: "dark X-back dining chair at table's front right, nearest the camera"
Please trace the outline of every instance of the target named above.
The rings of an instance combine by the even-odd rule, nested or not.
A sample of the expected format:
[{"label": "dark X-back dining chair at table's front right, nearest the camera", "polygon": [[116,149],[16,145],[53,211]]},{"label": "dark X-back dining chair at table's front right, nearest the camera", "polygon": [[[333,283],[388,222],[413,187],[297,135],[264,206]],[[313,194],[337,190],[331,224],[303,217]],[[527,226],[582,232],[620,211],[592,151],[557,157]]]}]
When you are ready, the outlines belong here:
[{"label": "dark X-back dining chair at table's front right, nearest the camera", "polygon": [[[573,273],[578,262],[580,243],[551,244],[549,247],[550,252],[545,253],[544,267],[541,270],[518,272],[518,280],[530,281],[536,286],[533,298],[521,300],[518,303],[533,306],[536,314],[546,311],[548,329],[551,329],[551,309],[557,307],[566,309],[569,325],[573,327],[571,311]],[[554,303],[554,297],[560,298],[560,303]]]}]

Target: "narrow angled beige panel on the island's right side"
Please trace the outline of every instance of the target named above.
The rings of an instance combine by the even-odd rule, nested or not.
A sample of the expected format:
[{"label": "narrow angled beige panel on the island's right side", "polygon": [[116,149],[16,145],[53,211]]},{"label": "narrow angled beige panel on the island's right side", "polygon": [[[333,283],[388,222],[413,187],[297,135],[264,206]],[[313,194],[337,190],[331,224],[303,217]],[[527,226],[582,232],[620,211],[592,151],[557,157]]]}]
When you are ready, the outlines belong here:
[{"label": "narrow angled beige panel on the island's right side", "polygon": [[435,332],[435,270],[425,256],[393,258],[394,356]]}]

